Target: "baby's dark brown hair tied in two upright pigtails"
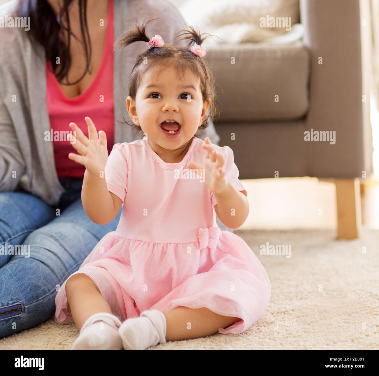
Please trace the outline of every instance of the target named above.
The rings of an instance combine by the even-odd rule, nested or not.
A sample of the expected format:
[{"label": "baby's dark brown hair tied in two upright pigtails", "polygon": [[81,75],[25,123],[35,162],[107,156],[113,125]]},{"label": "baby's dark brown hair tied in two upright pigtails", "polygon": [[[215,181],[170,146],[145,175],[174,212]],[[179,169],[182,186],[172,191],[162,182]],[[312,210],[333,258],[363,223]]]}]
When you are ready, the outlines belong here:
[{"label": "baby's dark brown hair tied in two upright pigtails", "polygon": [[[143,19],[138,19],[135,26],[126,30],[120,38],[116,41],[115,45],[121,51],[127,45],[137,42],[144,41],[149,42],[150,38],[146,34],[146,26],[152,22],[153,20],[158,20],[163,18],[148,18],[145,17]],[[142,77],[144,73],[153,67],[160,66],[158,72],[163,71],[166,67],[173,64],[177,70],[177,74],[180,78],[184,76],[184,73],[187,68],[191,69],[193,74],[200,79],[200,91],[202,92],[203,100],[207,100],[209,103],[209,117],[212,120],[215,120],[216,115],[218,114],[215,107],[215,87],[214,87],[214,77],[211,72],[211,69],[208,67],[207,62],[204,58],[195,55],[189,49],[191,44],[201,45],[202,42],[210,36],[210,34],[205,35],[204,33],[200,34],[193,27],[188,26],[188,30],[180,30],[184,31],[182,34],[179,34],[174,39],[179,36],[188,34],[188,36],[182,39],[189,39],[188,47],[176,46],[172,44],[164,44],[162,47],[153,46],[149,48],[147,46],[146,51],[139,54],[135,59],[135,64],[130,71],[130,75],[128,78],[128,88],[129,88],[129,96],[134,100],[136,99],[137,89],[139,85],[141,85]],[[148,64],[144,64],[144,61],[148,61]],[[158,73],[159,74],[159,73]],[[128,125],[134,125],[133,122],[130,124],[129,122],[124,122]],[[200,129],[204,129],[209,125],[208,117],[205,117],[202,122]]]}]

